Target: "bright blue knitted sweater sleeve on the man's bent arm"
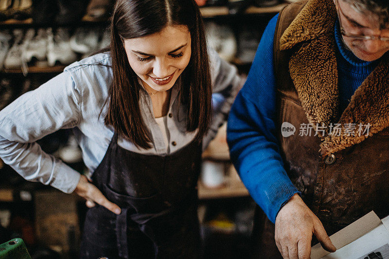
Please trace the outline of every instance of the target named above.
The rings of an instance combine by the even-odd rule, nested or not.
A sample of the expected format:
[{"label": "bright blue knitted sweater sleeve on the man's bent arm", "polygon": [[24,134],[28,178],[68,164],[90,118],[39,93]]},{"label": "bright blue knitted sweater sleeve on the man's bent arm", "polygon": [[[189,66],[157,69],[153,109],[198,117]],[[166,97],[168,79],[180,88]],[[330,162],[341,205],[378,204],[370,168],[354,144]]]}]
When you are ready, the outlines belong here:
[{"label": "bright blue knitted sweater sleeve on the man's bent arm", "polygon": [[227,127],[231,160],[251,196],[273,223],[281,207],[298,192],[283,168],[275,137],[273,41],[277,18],[270,20],[262,35]]}]

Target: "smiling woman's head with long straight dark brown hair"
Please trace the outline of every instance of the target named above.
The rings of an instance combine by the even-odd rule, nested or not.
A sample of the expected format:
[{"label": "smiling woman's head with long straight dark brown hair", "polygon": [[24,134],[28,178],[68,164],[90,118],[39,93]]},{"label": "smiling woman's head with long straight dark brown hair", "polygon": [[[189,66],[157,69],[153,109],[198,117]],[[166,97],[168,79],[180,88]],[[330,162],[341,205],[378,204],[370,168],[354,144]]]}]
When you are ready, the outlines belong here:
[{"label": "smiling woman's head with long straight dark brown hair", "polygon": [[[166,91],[190,64],[182,76],[185,83],[181,86],[186,87],[181,89],[180,98],[192,106],[187,111],[187,130],[198,130],[196,138],[201,139],[211,119],[211,80],[204,24],[196,3],[119,0],[111,27],[114,83],[106,123],[136,145],[151,147],[137,105],[129,104],[137,102],[134,93],[141,87],[139,79],[149,93]],[[177,47],[182,45],[178,52]],[[171,75],[171,82],[156,83]],[[166,93],[160,96],[159,106],[166,106]]]}]

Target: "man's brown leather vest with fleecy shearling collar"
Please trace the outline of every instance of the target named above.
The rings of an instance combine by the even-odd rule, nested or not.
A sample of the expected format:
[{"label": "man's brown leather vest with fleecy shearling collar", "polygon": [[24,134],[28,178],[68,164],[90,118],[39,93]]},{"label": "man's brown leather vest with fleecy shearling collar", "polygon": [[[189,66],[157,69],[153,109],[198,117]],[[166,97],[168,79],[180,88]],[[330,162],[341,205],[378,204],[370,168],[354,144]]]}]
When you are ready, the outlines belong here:
[{"label": "man's brown leather vest with fleecy shearling collar", "polygon": [[[280,153],[329,235],[371,210],[389,214],[388,56],[340,114],[336,18],[333,0],[299,1],[280,13],[274,38]],[[284,121],[296,127],[294,135],[282,136]],[[311,136],[301,134],[301,123],[312,123]],[[331,123],[341,124],[341,136],[329,134]],[[355,136],[346,123],[355,123]],[[369,136],[356,133],[359,123],[370,123]],[[314,136],[317,125],[325,132]]]}]

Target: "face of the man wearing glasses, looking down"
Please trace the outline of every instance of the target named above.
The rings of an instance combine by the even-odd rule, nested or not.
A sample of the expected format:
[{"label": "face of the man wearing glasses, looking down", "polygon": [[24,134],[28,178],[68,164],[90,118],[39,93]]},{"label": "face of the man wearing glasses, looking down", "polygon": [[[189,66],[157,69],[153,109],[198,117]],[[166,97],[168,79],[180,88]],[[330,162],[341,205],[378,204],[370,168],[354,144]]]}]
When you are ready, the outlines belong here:
[{"label": "face of the man wearing glasses, looking down", "polygon": [[[352,4],[344,0],[335,0],[341,27],[347,34],[389,37],[389,28],[379,29],[378,17],[371,12],[358,12]],[[346,35],[343,41],[356,57],[373,61],[389,51],[389,42],[380,39],[355,39]]]}]

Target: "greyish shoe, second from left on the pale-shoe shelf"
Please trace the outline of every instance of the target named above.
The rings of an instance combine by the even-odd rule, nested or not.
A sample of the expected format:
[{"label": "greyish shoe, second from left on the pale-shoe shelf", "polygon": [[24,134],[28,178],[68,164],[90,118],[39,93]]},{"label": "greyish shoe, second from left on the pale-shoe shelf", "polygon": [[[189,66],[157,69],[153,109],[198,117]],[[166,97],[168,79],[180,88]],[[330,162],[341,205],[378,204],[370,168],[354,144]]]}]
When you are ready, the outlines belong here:
[{"label": "greyish shoe, second from left on the pale-shoe shelf", "polygon": [[4,59],[4,68],[6,69],[16,69],[22,66],[23,31],[15,29],[12,34],[14,35],[14,43]]}]

